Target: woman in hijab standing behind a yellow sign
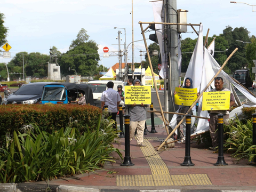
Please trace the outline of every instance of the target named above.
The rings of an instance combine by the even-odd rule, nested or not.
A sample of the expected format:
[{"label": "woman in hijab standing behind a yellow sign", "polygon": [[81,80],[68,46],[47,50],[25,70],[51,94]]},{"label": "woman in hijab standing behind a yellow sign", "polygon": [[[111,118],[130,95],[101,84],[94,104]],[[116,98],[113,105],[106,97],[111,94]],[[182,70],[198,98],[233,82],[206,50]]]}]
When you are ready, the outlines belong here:
[{"label": "woman in hijab standing behind a yellow sign", "polygon": [[[183,88],[187,88],[187,89],[193,89],[193,81],[191,78],[187,77],[185,79],[185,85],[183,86]],[[174,91],[174,95],[176,94],[176,91]],[[197,96],[199,95],[199,93],[197,93]],[[183,114],[186,114],[188,109],[190,108],[190,106],[180,106],[179,108],[179,113],[183,113]],[[189,112],[190,115],[194,115],[194,113],[196,114],[196,107],[194,106],[192,108],[192,110]],[[178,116],[179,117],[179,116]],[[177,119],[178,119],[177,117]],[[181,117],[180,117],[181,118]],[[193,134],[194,133],[194,129],[195,129],[195,117],[191,117],[191,128],[190,128],[190,134]],[[178,124],[178,122],[177,122]],[[183,127],[183,134],[185,136],[185,129],[186,127]]]}]

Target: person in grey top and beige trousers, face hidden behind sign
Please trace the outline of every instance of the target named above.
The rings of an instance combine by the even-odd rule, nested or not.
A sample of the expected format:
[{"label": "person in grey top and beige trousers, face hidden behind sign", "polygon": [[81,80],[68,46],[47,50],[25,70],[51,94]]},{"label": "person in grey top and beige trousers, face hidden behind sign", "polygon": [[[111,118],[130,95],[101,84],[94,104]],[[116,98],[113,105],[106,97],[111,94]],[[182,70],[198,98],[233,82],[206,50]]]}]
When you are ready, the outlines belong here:
[{"label": "person in grey top and beige trousers, face hidden behind sign", "polygon": [[[133,85],[140,86],[141,82],[139,79],[135,79],[133,81]],[[130,141],[132,140],[135,130],[137,129],[137,146],[145,147],[143,145],[143,134],[145,129],[145,122],[147,118],[146,107],[148,105],[144,105],[140,103],[140,105],[128,105],[129,107],[129,115],[130,115]]]}]

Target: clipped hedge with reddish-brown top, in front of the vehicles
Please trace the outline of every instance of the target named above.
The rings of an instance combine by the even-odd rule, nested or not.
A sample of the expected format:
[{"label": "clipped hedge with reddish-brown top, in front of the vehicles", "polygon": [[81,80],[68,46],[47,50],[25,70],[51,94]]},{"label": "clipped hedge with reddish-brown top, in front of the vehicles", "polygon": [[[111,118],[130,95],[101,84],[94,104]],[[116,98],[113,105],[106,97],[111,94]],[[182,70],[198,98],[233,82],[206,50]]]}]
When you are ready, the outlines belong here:
[{"label": "clipped hedge with reddish-brown top, in front of the vehicles", "polygon": [[78,121],[77,129],[83,133],[93,131],[97,126],[100,108],[90,105],[1,105],[0,106],[0,147],[6,133],[19,131],[23,125],[36,124],[46,132],[60,130],[70,121]]}]

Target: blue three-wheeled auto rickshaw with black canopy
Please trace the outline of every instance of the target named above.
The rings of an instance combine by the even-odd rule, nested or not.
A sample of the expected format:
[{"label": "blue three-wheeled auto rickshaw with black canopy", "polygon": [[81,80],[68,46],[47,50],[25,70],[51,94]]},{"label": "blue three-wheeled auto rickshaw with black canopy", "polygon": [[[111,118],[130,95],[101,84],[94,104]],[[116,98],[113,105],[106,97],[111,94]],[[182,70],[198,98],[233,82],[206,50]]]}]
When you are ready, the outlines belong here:
[{"label": "blue three-wheeled auto rickshaw with black canopy", "polygon": [[41,103],[67,104],[76,100],[79,92],[83,93],[86,103],[94,105],[91,88],[86,84],[52,83],[43,87]]}]

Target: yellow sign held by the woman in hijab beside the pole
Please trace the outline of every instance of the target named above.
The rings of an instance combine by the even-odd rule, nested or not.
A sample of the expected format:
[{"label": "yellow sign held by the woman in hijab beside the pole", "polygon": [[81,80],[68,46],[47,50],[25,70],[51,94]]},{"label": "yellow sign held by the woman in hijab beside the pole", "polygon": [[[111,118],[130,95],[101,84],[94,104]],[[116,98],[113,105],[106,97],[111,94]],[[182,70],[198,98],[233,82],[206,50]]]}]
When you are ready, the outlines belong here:
[{"label": "yellow sign held by the woman in hijab beside the pole", "polygon": [[176,94],[174,95],[174,102],[176,105],[191,106],[197,99],[197,88],[188,89],[175,87]]}]

